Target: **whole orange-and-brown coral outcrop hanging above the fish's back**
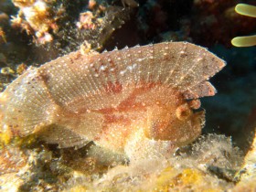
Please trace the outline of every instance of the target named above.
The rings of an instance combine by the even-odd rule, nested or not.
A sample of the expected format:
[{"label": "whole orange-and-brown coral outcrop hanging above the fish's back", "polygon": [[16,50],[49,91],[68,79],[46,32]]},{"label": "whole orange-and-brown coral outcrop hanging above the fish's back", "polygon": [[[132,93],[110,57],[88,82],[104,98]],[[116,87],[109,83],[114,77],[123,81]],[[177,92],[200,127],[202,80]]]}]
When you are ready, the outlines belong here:
[{"label": "whole orange-and-brown coral outcrop hanging above the fish's back", "polygon": [[[121,27],[129,15],[127,9],[94,0],[87,5],[80,1],[76,4],[41,0],[13,2],[19,8],[17,16],[13,16],[13,27],[26,30],[38,46],[47,44],[48,49],[68,48],[68,41],[67,51],[77,49],[83,42],[89,43],[91,48],[101,48],[112,31]],[[133,1],[125,3],[133,5]],[[80,16],[74,15],[76,8],[72,7],[76,5],[81,6]],[[76,27],[75,19],[78,19]]]}]

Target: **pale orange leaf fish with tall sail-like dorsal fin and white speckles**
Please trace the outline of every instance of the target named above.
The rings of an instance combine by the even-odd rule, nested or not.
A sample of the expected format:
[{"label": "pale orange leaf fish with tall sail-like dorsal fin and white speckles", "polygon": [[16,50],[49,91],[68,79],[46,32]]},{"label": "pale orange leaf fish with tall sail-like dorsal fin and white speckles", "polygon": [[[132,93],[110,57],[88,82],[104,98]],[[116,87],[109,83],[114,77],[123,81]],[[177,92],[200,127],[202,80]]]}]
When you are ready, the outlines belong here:
[{"label": "pale orange leaf fish with tall sail-like dorsal fin and white speckles", "polygon": [[48,144],[96,145],[129,158],[194,141],[225,62],[206,48],[165,42],[84,55],[27,70],[0,96],[1,132],[35,133]]}]

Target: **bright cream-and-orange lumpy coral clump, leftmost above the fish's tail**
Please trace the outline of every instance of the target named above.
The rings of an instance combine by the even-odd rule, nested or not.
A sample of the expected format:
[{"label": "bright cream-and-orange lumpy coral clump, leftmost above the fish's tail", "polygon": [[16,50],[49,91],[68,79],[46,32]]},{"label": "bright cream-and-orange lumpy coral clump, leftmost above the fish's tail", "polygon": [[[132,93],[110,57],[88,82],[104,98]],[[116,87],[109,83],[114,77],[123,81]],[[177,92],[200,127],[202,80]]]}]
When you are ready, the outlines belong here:
[{"label": "bright cream-and-orange lumpy coral clump, leftmost above the fish's tail", "polygon": [[19,7],[18,15],[13,17],[12,25],[24,28],[27,35],[32,35],[38,44],[53,40],[53,34],[59,30],[58,20],[65,16],[65,9],[52,5],[54,1],[19,1],[14,0]]}]

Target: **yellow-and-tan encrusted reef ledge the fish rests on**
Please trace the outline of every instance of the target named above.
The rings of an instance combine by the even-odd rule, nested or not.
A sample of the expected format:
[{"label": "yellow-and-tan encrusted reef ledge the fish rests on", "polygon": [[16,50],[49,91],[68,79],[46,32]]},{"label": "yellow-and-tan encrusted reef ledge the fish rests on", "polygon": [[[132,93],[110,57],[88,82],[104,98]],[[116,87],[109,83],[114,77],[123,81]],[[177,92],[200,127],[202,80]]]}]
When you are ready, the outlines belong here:
[{"label": "yellow-and-tan encrusted reef ledge the fish rests on", "polygon": [[34,140],[26,147],[1,149],[1,190],[221,191],[235,187],[232,178],[242,161],[230,138],[217,134],[202,136],[191,149],[184,148],[169,158],[156,156],[111,167],[97,164],[85,148],[52,152],[35,146]]}]

